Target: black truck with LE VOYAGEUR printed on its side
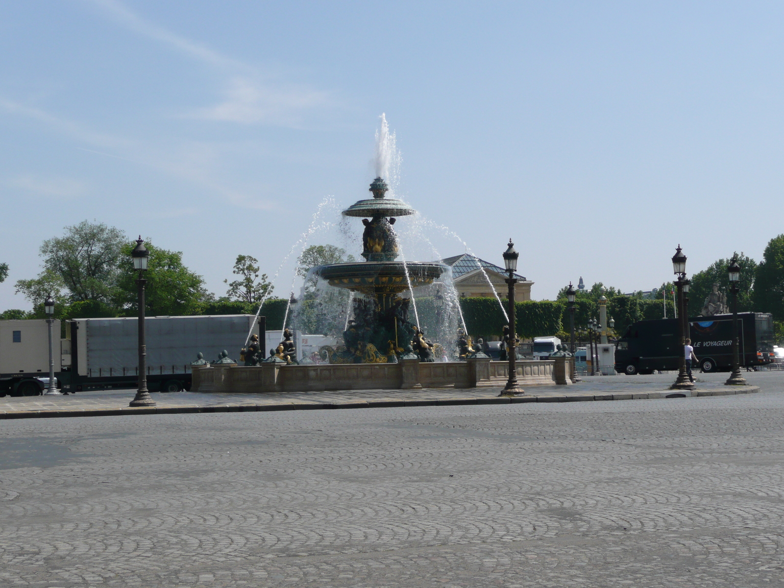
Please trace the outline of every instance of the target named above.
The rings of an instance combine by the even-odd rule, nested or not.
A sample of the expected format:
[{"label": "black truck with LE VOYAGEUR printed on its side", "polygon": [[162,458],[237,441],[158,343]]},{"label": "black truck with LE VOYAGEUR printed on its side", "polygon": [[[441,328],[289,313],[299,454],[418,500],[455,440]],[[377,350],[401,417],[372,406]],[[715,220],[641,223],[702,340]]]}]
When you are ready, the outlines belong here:
[{"label": "black truck with LE VOYAGEUR printed on its side", "polygon": [[[689,320],[689,337],[699,359],[695,368],[718,372],[732,365],[732,315],[695,317]],[[773,354],[771,314],[738,314],[739,360],[742,367],[767,365]],[[615,343],[615,371],[628,375],[650,374],[681,366],[681,336],[677,318],[637,321]]]}]

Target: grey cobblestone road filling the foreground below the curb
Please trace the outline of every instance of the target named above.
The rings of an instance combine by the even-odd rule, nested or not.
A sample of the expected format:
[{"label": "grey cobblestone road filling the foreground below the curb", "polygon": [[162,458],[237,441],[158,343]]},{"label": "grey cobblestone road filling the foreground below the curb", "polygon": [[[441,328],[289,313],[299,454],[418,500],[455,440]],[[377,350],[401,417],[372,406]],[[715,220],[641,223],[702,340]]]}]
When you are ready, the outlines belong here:
[{"label": "grey cobblestone road filling the foreground below the curb", "polygon": [[5,420],[0,586],[782,586],[782,417],[765,391]]}]

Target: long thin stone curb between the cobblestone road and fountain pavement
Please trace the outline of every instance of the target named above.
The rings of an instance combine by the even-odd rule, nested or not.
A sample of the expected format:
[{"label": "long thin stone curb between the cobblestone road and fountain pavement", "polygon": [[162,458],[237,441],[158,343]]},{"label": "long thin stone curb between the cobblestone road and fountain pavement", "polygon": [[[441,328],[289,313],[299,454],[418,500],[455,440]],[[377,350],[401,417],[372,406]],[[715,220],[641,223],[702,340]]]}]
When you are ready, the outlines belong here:
[{"label": "long thin stone curb between the cobblestone road and fountain pavement", "polygon": [[657,400],[665,398],[732,396],[755,394],[759,386],[727,387],[716,390],[662,390],[612,394],[548,394],[546,396],[431,398],[428,400],[379,400],[345,402],[281,402],[268,405],[148,406],[140,408],[75,408],[67,410],[20,410],[0,412],[0,419],[70,418],[74,416],[183,415],[197,412],[275,412],[280,410],[324,410],[334,408],[404,408],[414,406],[508,405],[525,402],[586,402],[601,400]]}]

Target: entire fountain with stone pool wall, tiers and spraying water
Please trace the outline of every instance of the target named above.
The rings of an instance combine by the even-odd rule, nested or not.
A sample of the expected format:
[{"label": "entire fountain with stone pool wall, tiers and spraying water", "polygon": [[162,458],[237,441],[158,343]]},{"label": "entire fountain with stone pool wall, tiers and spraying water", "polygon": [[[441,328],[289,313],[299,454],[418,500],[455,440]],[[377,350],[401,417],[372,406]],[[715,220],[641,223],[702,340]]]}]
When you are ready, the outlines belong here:
[{"label": "entire fountain with stone pool wall, tiers and spraying water", "polygon": [[[452,286],[452,268],[437,261],[408,261],[403,255],[394,225],[398,218],[412,216],[416,210],[394,198],[394,191],[390,190],[388,182],[394,186],[397,162],[399,155],[394,146],[394,134],[390,134],[382,116],[376,140],[376,179],[369,188],[372,198],[357,201],[343,210],[339,225],[321,220],[322,209],[333,205],[331,198],[322,202],[309,229],[284,259],[283,263],[298,245],[304,251],[310,237],[320,227],[339,227],[345,237],[354,233],[350,229],[351,219],[362,220],[365,230],[361,236],[361,256],[364,261],[311,268],[305,277],[299,303],[292,296],[286,307],[284,327],[288,326],[286,321],[289,307],[292,307],[294,328],[298,321],[305,324],[309,316],[316,316],[321,322],[319,328],[323,330],[310,332],[339,337],[342,331],[343,344],[320,348],[322,358],[327,362],[303,361],[296,365],[292,357],[294,343],[287,328],[285,340],[278,344],[274,357],[257,361],[256,365],[217,362],[194,366],[191,390],[258,393],[503,387],[508,377],[508,363],[490,361],[471,346],[457,292]],[[404,227],[416,230],[417,224],[415,217],[414,222],[409,221]],[[401,234],[405,235],[405,232],[402,230]],[[430,243],[426,235],[420,237],[418,241]],[[355,238],[351,238],[351,242],[356,243]],[[439,257],[437,252],[435,257]],[[417,312],[414,293],[430,285],[428,297],[420,299],[422,306]],[[306,287],[311,289],[307,302],[314,303],[308,307],[310,310],[306,309]],[[405,292],[410,297],[402,296]],[[423,306],[431,308],[425,310]],[[409,309],[413,310],[411,314]],[[434,326],[437,343],[426,339],[420,318]],[[463,327],[460,330],[456,324],[458,320]],[[456,332],[459,333],[457,337]],[[248,340],[251,334],[249,332]],[[517,378],[525,386],[553,383],[554,364],[555,361],[517,361]]]}]

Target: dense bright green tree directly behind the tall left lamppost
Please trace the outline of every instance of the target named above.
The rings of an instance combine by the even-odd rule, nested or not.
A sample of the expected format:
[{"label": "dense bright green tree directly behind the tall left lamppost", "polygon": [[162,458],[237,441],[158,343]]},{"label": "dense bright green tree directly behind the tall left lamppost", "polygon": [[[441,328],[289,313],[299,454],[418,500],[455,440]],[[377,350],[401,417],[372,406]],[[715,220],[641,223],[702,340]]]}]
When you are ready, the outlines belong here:
[{"label": "dense bright green tree directly behind the tall left lamppost", "polygon": [[[114,296],[114,304],[125,314],[136,314],[138,272],[131,263],[131,250],[136,242],[125,243],[121,248],[121,258],[127,260],[118,268],[119,277]],[[214,299],[204,288],[204,278],[183,265],[180,251],[159,249],[146,241],[144,246],[150,252],[147,261],[145,307],[149,316],[182,316],[195,314],[209,300]]]}]

